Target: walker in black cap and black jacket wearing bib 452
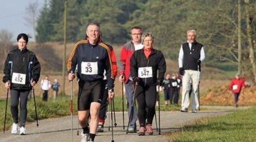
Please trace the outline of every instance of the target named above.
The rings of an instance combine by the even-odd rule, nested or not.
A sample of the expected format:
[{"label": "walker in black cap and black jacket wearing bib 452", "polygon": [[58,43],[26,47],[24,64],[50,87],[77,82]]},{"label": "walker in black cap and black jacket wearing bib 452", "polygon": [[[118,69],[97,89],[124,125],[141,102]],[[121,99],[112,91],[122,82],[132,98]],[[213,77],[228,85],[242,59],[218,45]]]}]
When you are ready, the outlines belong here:
[{"label": "walker in black cap and black jacket wearing bib 452", "polygon": [[17,37],[18,48],[8,53],[5,60],[3,82],[11,93],[11,115],[13,125],[11,133],[18,133],[18,104],[20,100],[19,134],[25,135],[28,94],[40,77],[40,63],[36,55],[27,49],[28,35],[21,33]]}]

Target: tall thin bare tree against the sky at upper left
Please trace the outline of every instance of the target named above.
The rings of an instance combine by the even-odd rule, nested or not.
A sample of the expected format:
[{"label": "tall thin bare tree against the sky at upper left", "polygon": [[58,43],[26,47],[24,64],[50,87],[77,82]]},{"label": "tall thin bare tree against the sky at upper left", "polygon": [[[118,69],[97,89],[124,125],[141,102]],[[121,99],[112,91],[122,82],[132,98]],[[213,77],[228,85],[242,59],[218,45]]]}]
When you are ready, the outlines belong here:
[{"label": "tall thin bare tree against the sky at upper left", "polygon": [[36,37],[36,24],[37,24],[37,16],[39,11],[38,1],[30,1],[29,5],[26,7],[26,24],[33,28],[34,37]]}]

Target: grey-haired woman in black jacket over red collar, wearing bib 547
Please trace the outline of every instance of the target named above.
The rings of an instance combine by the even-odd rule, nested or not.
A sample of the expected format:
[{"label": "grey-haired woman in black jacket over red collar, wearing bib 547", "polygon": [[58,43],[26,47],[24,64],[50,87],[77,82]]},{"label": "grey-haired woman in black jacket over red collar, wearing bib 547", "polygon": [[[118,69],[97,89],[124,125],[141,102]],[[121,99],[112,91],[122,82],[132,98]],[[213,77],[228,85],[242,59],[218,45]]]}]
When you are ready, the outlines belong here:
[{"label": "grey-haired woman in black jacket over red collar, wearing bib 547", "polygon": [[[161,51],[153,49],[151,33],[142,35],[143,49],[136,50],[131,57],[131,77],[136,85],[138,102],[139,136],[153,134],[152,120],[155,114],[156,85],[162,86],[166,63]],[[157,79],[158,70],[158,79]]]}]

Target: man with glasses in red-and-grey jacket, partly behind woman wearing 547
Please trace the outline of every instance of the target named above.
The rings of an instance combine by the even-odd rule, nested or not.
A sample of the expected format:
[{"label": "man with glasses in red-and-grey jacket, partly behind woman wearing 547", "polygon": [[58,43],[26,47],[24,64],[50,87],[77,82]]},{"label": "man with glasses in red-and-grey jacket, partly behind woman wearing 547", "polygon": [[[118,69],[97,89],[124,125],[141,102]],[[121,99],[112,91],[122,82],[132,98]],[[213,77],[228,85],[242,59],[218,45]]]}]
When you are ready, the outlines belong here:
[{"label": "man with glasses in red-and-grey jacket, partly behind woman wearing 547", "polygon": [[[131,115],[130,126],[128,128],[128,133],[136,133],[136,120],[137,110],[134,105],[131,108],[131,104],[133,101],[133,79],[130,75],[130,60],[133,52],[143,48],[143,44],[141,43],[141,35],[142,30],[141,27],[132,27],[131,28],[131,38],[132,40],[126,43],[122,49],[120,54],[120,65],[119,65],[119,81],[125,82],[125,95],[128,101],[128,115]],[[131,113],[132,112],[132,113]]]}]

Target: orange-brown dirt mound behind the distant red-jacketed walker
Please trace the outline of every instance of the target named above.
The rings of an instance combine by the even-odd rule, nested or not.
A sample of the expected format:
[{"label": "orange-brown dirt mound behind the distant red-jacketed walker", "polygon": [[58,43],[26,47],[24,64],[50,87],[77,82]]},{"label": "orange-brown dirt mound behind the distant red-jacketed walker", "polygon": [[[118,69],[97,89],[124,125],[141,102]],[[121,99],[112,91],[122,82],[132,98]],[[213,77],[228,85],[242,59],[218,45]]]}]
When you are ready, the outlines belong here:
[{"label": "orange-brown dirt mound behind the distant red-jacketed walker", "polygon": [[[229,84],[225,83],[212,88],[206,96],[201,98],[202,105],[233,105],[234,96],[229,90]],[[240,106],[256,105],[256,86],[246,87],[239,96]]]}]

